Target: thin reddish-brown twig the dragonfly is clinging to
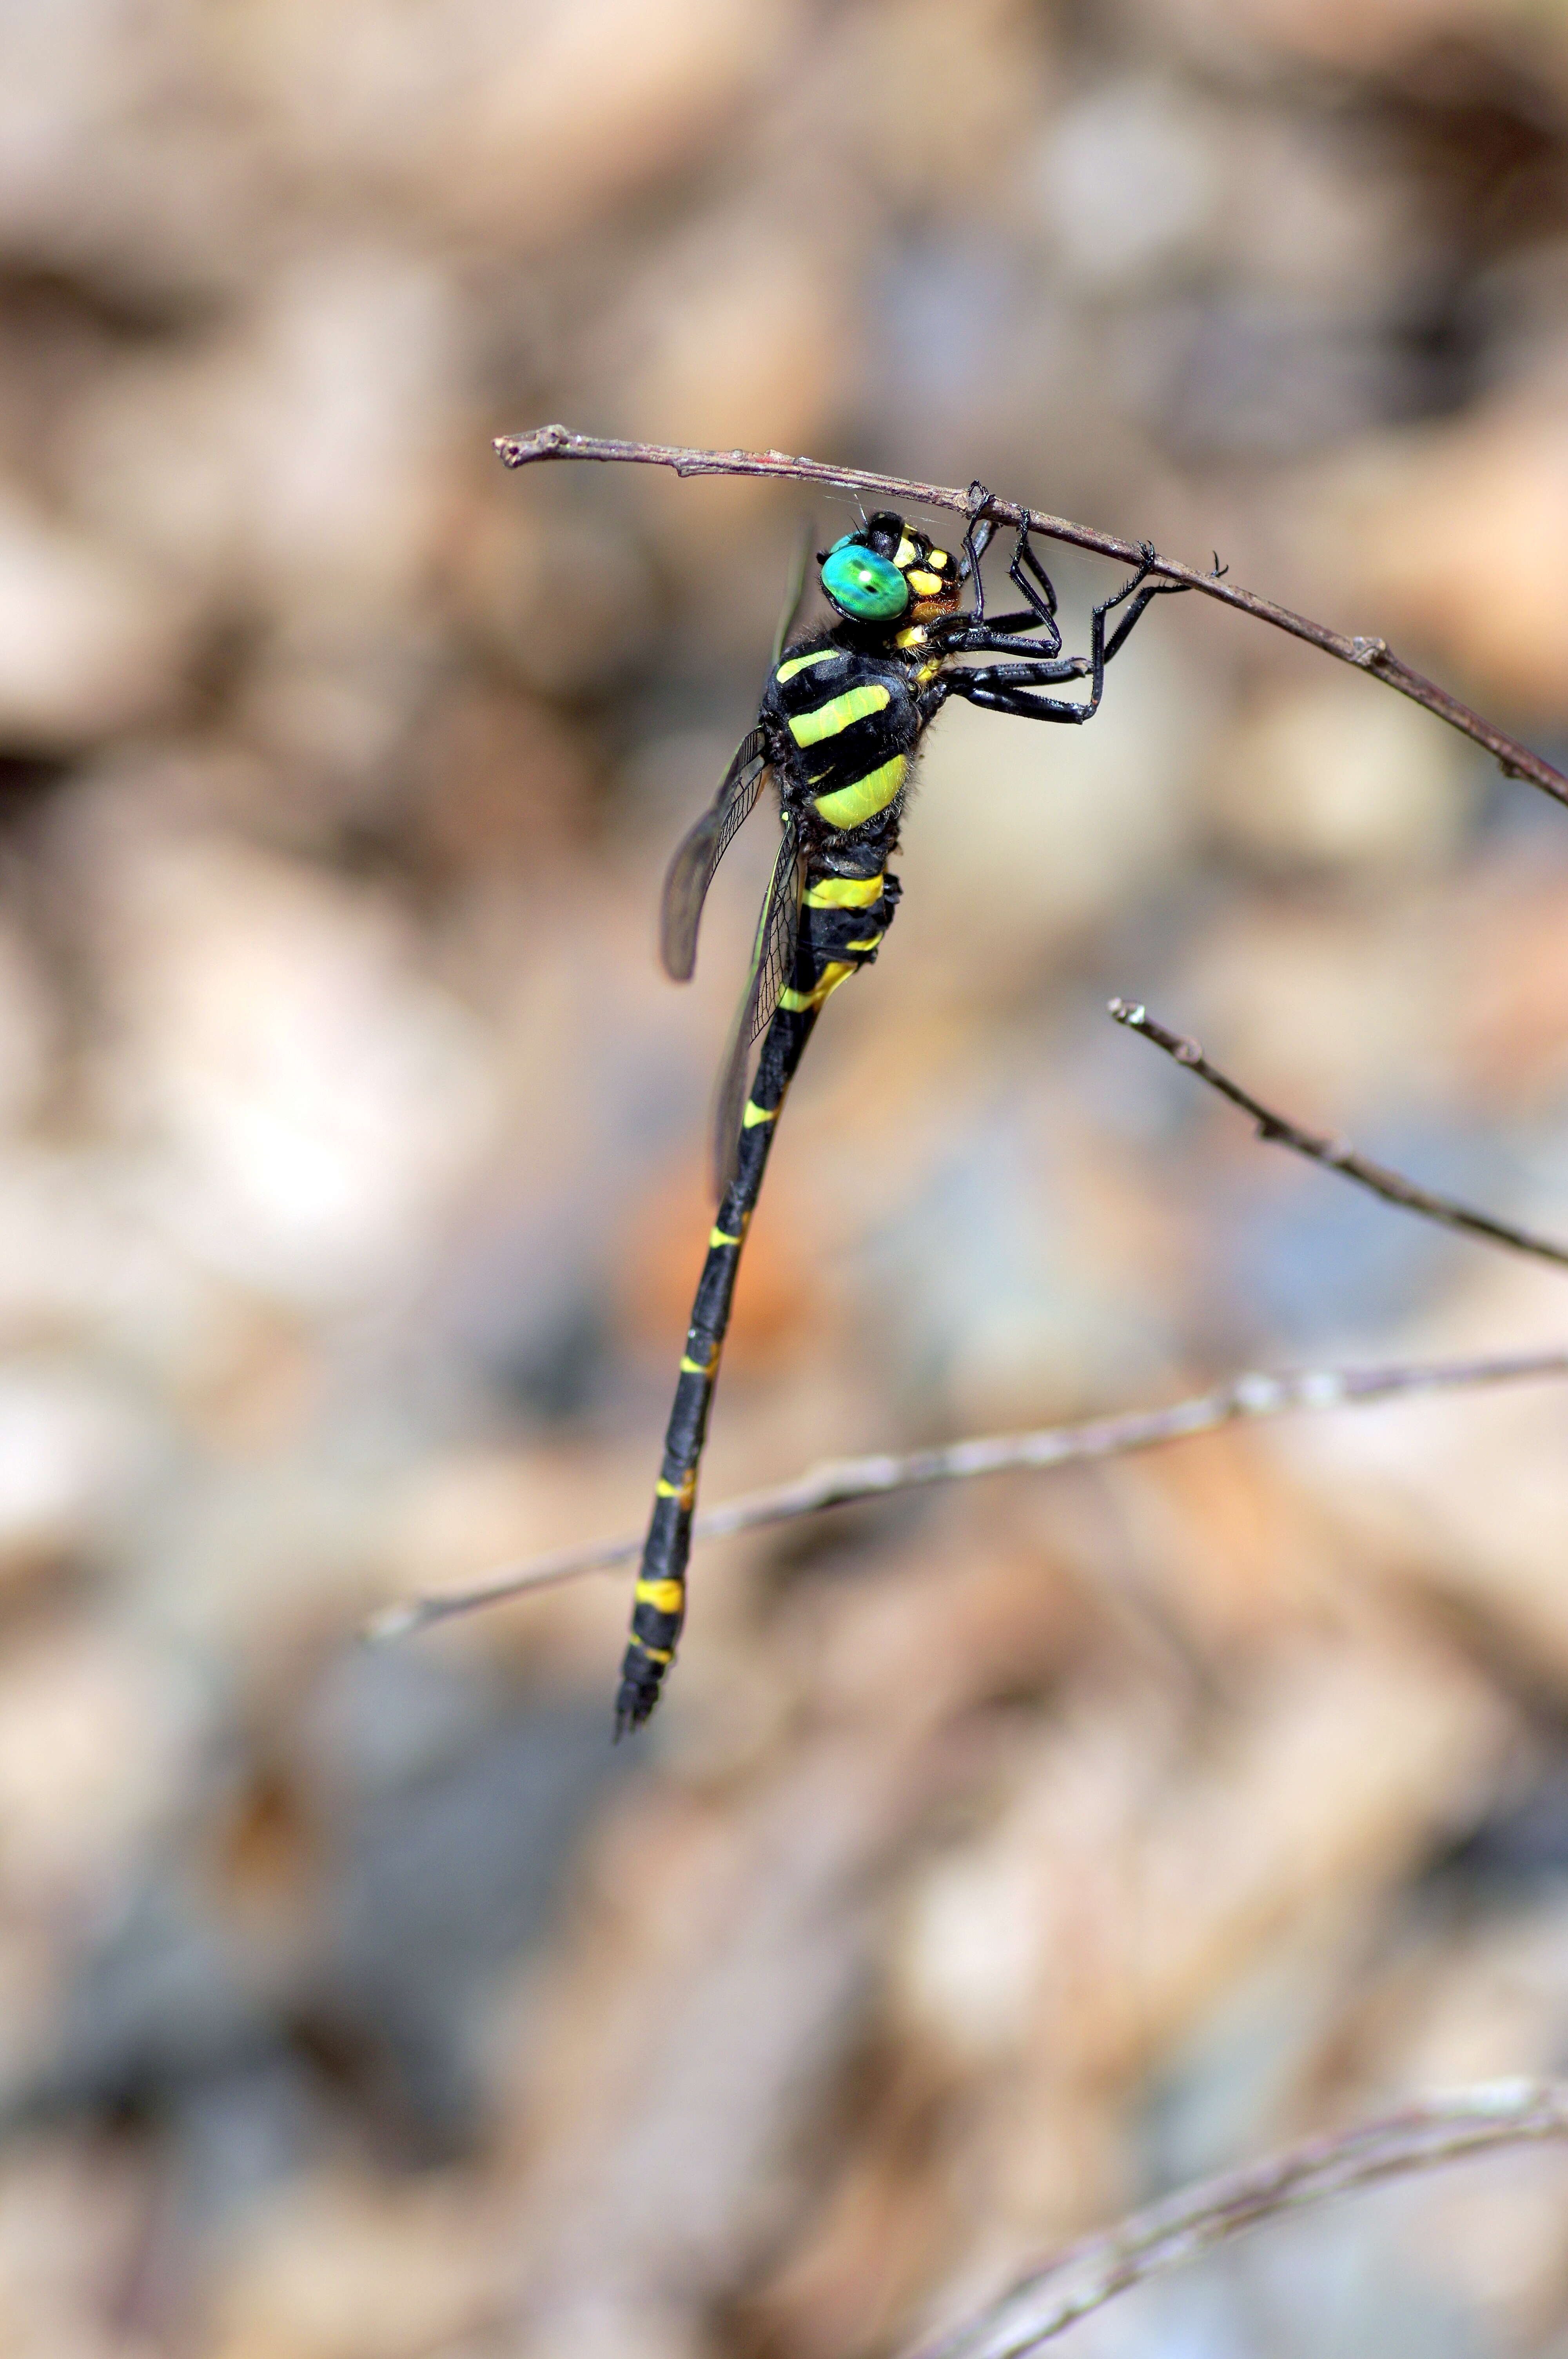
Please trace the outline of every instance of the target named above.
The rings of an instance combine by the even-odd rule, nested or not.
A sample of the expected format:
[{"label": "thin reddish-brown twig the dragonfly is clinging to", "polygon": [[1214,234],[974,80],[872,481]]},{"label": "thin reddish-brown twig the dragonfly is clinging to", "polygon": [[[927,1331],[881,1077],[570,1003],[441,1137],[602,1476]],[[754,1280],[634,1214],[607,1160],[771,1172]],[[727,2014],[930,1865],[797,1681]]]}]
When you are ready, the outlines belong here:
[{"label": "thin reddish-brown twig the dragonfly is clinging to", "polygon": [[[677,474],[764,474],[783,477],[790,484],[830,484],[837,491],[854,491],[875,500],[908,500],[920,507],[950,507],[957,514],[969,512],[969,493],[955,491],[950,484],[910,484],[898,474],[870,474],[865,467],[828,467],[816,458],[790,458],[788,451],[686,451],[677,443],[571,434],[566,427],[498,434],[495,451],[507,467],[528,467],[547,458],[625,460],[639,467],[674,467]],[[1028,517],[1033,531],[1045,533],[1047,540],[1068,540],[1073,547],[1094,550],[1099,557],[1120,557],[1129,566],[1144,561],[1144,550],[1137,543],[1120,540],[1115,533],[1099,533],[1089,524],[1073,524],[1068,517],[1052,517],[1040,507],[993,500],[986,512],[997,524],[1021,524]],[[1528,778],[1542,793],[1568,802],[1568,776],[1561,769],[1554,769],[1551,762],[1544,762],[1516,738],[1504,736],[1502,729],[1493,729],[1481,712],[1471,712],[1448,689],[1412,670],[1389,649],[1386,639],[1349,639],[1344,632],[1330,630],[1327,623],[1313,623],[1304,613],[1292,613],[1290,606],[1276,606],[1273,599],[1257,597],[1254,590],[1240,590],[1236,583],[1217,580],[1212,573],[1198,573],[1174,557],[1155,557],[1155,573],[1162,573],[1172,583],[1186,583],[1188,590],[1203,590],[1205,597],[1219,599],[1221,606],[1236,606],[1238,613],[1250,613],[1259,623],[1273,623],[1276,630],[1287,630],[1292,639],[1320,646],[1325,656],[1337,656],[1339,663],[1353,663],[1358,672],[1382,679],[1384,686],[1398,689],[1401,696],[1424,705],[1427,712],[1436,712],[1450,729],[1460,729],[1467,738],[1474,738],[1476,745],[1493,755],[1504,776]]]}]

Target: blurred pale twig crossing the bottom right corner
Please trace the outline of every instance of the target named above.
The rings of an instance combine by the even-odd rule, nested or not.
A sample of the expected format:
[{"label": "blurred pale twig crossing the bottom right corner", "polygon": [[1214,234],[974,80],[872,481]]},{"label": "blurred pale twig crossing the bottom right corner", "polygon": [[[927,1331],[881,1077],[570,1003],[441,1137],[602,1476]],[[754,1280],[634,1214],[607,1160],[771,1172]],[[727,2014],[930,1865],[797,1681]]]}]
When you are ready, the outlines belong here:
[{"label": "blurred pale twig crossing the bottom right corner", "polygon": [[1566,2135],[1568,2083],[1493,2081],[1429,2097],[1353,2130],[1311,2137],[1264,2163],[1203,2180],[1132,2213],[1120,2227],[1070,2246],[948,2335],[929,2359],[1021,2359],[1115,2293],[1212,2253],[1259,2220],[1323,2203],[1349,2187],[1401,2180],[1497,2147]]}]

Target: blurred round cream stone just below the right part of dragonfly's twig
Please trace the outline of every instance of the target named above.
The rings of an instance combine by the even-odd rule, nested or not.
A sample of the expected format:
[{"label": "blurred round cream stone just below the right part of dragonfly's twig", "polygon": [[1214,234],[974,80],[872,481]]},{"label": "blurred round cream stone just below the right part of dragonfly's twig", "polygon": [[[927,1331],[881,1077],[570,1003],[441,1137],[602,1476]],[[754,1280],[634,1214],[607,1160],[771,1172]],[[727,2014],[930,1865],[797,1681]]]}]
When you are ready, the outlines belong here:
[{"label": "blurred round cream stone just below the right part of dragonfly's twig", "polygon": [[1261,868],[1394,870],[1452,854],[1474,764],[1450,729],[1361,679],[1266,694],[1205,778],[1221,840]]}]

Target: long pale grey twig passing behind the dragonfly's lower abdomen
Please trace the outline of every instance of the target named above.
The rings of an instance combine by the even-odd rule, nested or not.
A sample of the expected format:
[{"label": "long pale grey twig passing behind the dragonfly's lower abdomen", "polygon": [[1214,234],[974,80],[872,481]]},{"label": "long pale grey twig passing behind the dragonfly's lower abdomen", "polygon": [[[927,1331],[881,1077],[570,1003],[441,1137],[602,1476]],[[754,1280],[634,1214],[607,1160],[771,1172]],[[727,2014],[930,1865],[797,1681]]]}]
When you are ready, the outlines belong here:
[{"label": "long pale grey twig passing behind the dragonfly's lower abdomen", "polygon": [[[811,1467],[795,1481],[752,1491],[724,1507],[710,1507],[693,1524],[696,1540],[724,1540],[764,1524],[785,1524],[797,1514],[844,1507],[856,1498],[887,1498],[891,1491],[917,1491],[938,1481],[969,1481],[976,1474],[1007,1474],[1019,1467],[1075,1465],[1085,1458],[1115,1458],[1127,1451],[1155,1448],[1162,1441],[1186,1441],[1210,1434],[1240,1418],[1283,1418],[1306,1408],[1349,1408],[1361,1401],[1386,1401],[1401,1392],[1462,1392],[1478,1385],[1516,1385],[1535,1378],[1568,1375],[1568,1352],[1518,1352],[1507,1359],[1445,1359],[1396,1368],[1318,1368],[1304,1375],[1238,1375],[1217,1392],[1200,1392],[1170,1408],[1134,1408],[1115,1418],[1092,1418],[1085,1425],[1047,1425],[1030,1434],[983,1434],[953,1441],[938,1451],[910,1451],[905,1458],[835,1458]],[[625,1540],[594,1540],[587,1548],[561,1548],[528,1564],[505,1564],[465,1590],[434,1590],[384,1606],[368,1637],[398,1640],[453,1614],[521,1597],[526,1590],[554,1588],[582,1573],[611,1571],[641,1555],[641,1533]]]}]

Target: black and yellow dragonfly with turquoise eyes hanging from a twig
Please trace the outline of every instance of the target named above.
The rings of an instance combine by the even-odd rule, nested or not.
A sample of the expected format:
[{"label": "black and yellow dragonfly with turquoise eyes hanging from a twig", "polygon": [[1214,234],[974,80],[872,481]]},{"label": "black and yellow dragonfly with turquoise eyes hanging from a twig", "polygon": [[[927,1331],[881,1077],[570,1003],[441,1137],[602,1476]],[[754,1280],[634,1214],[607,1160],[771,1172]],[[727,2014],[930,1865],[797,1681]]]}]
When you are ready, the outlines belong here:
[{"label": "black and yellow dragonfly with turquoise eyes hanging from a twig", "polygon": [[[679,845],[663,901],[663,960],[677,981],[696,965],[698,920],[714,870],[764,781],[778,790],[783,835],[762,903],[752,972],[731,1033],[714,1118],[717,1220],[698,1281],[686,1352],[665,1432],[644,1543],[632,1637],[620,1665],[615,1734],[637,1729],[658,1703],[686,1616],[686,1557],[736,1272],[762,1172],[802,1052],[828,998],[870,965],[894,922],[898,878],[889,859],[922,734],[950,696],[1035,722],[1087,722],[1099,710],[1106,665],[1162,590],[1148,583],[1153,547],[1122,587],[1099,602],[1089,653],[1063,656],[1056,590],[1019,528],[1009,576],[1026,604],[986,613],[981,557],[995,526],[990,493],[969,493],[957,552],[941,550],[903,517],[879,512],[821,552],[821,585],[835,623],[785,646],[778,632],[755,727],[736,748],[712,804]],[[964,587],[974,602],[964,609]],[[1132,602],[1132,604],[1127,604]],[[797,604],[797,602],[792,602]],[[1106,637],[1106,616],[1127,611]],[[1002,653],[1012,663],[962,663]],[[1047,689],[1087,679],[1087,701]],[[752,1069],[752,1047],[762,1052]]]}]

